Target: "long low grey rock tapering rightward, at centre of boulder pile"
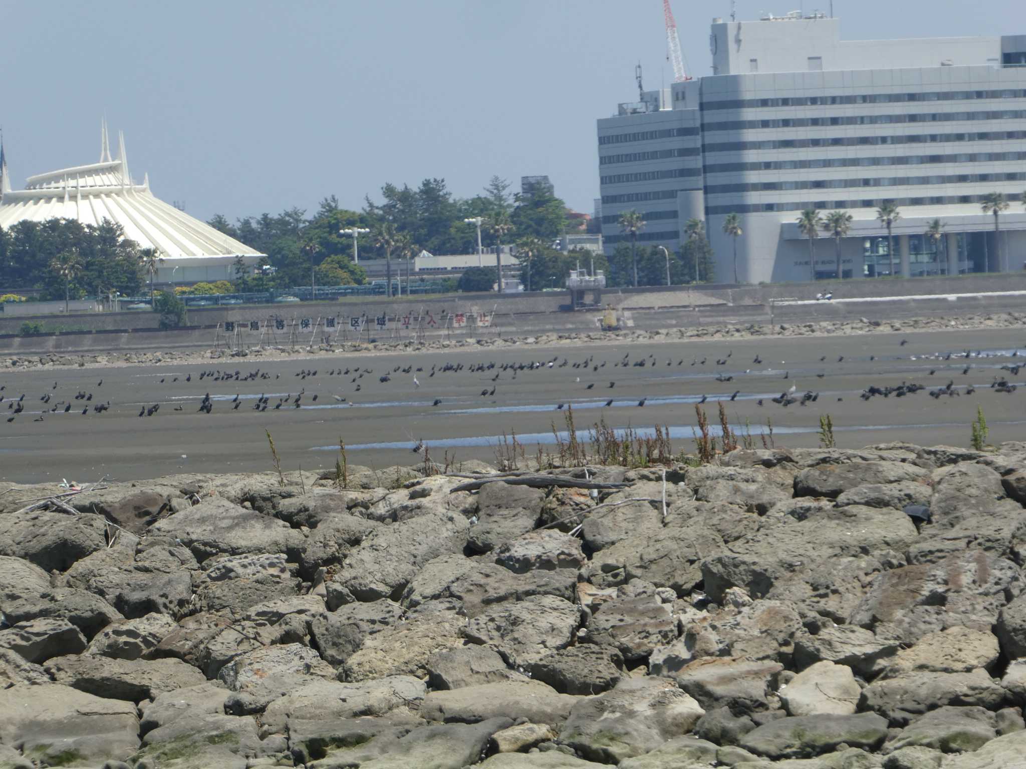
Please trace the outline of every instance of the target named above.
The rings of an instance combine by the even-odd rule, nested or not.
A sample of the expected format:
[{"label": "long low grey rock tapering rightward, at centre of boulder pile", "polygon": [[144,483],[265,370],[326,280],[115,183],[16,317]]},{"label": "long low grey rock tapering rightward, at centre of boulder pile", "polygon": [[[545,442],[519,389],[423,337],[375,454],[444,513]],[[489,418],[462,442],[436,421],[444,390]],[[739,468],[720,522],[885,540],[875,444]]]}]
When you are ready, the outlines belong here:
[{"label": "long low grey rock tapering rightward, at centre of boulder pile", "polygon": [[[490,485],[490,484],[489,484]],[[432,559],[406,588],[402,603],[416,608],[427,601],[457,600],[468,617],[507,601],[531,596],[576,600],[577,574],[571,569],[514,574],[499,564],[450,554]]]}]

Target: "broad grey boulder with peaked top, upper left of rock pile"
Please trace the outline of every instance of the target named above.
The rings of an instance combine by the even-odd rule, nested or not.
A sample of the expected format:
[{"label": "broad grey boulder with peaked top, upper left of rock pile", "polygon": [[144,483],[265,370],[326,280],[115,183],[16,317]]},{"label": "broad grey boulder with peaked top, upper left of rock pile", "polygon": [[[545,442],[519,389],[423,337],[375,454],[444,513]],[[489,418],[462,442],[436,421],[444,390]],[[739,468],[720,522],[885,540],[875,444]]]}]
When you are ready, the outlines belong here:
[{"label": "broad grey boulder with peaked top, upper left of rock pile", "polygon": [[247,553],[284,553],[297,561],[304,545],[303,535],[284,521],[211,497],[193,508],[175,513],[151,527],[182,541],[202,563],[211,556],[241,556]]}]

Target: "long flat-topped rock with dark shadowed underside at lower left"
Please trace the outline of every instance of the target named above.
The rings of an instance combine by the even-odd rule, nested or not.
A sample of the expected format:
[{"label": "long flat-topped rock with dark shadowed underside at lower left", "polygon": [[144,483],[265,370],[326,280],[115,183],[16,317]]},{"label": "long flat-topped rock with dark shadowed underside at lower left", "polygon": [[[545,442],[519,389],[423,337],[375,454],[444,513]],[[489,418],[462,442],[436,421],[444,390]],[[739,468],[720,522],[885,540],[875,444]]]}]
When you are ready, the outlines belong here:
[{"label": "long flat-topped rock with dark shadowed underside at lower left", "polygon": [[109,699],[139,702],[206,679],[179,659],[112,659],[91,655],[53,657],[44,665],[58,684]]}]

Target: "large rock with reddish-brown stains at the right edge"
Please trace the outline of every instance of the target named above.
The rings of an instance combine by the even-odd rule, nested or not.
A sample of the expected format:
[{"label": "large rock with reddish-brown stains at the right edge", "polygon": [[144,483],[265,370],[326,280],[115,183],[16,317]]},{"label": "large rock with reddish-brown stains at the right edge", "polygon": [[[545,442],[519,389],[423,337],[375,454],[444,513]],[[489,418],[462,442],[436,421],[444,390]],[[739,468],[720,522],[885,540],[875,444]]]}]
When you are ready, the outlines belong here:
[{"label": "large rock with reddish-brown stains at the right edge", "polygon": [[989,632],[1007,603],[1005,595],[1018,594],[1021,585],[1012,562],[979,550],[963,551],[938,563],[878,574],[851,621],[867,629],[886,622],[904,643],[955,625]]}]

